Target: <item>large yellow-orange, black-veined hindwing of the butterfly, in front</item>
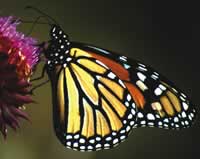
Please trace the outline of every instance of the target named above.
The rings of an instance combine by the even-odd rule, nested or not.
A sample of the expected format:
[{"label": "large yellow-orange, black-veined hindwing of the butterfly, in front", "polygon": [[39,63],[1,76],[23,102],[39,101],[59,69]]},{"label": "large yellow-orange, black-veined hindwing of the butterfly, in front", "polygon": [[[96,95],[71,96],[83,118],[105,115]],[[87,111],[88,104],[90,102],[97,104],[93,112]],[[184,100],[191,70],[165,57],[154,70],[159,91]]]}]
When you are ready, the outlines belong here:
[{"label": "large yellow-orange, black-veined hindwing of the butterfly, in front", "polygon": [[56,77],[52,80],[56,134],[74,150],[112,148],[135,125],[136,104],[124,82],[106,65],[78,48],[69,54],[73,60],[66,67],[49,72],[50,79]]}]

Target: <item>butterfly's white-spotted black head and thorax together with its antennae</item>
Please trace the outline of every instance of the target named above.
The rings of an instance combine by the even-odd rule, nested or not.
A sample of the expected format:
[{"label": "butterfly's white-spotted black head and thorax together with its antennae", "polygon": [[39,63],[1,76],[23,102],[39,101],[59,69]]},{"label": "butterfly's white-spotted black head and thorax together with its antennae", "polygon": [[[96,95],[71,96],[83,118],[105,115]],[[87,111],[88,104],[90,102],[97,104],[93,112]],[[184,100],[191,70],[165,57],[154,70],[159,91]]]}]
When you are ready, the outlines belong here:
[{"label": "butterfly's white-spotted black head and thorax together with its antennae", "polygon": [[38,46],[40,46],[40,49],[45,55],[47,65],[49,67],[54,67],[55,65],[65,66],[70,50],[70,41],[68,39],[67,34],[64,33],[64,31],[54,18],[44,13],[40,9],[33,6],[27,6],[26,9],[31,9],[40,14],[40,16],[35,20],[35,22],[33,22],[34,24],[40,23],[40,18],[45,18],[47,23],[41,24],[48,24],[51,27],[49,32],[50,40],[48,42],[38,44]]}]

